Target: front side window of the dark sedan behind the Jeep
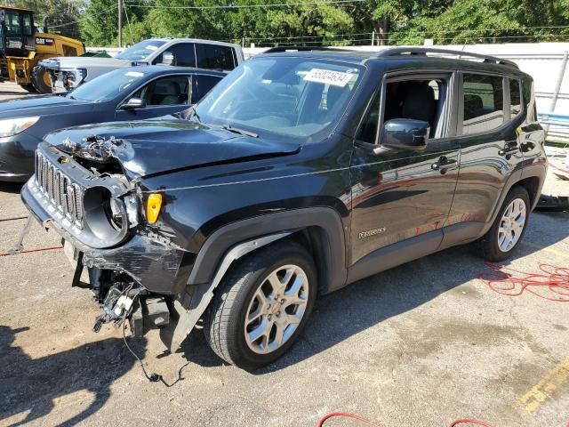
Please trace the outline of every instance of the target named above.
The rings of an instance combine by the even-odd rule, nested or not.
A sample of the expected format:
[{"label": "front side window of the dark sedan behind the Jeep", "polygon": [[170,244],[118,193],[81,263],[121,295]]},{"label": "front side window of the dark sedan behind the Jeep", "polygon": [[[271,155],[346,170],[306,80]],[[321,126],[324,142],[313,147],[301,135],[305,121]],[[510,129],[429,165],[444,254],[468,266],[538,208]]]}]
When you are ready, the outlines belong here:
[{"label": "front side window of the dark sedan behind the Jeep", "polygon": [[148,106],[188,104],[189,77],[170,76],[154,80],[132,95]]}]

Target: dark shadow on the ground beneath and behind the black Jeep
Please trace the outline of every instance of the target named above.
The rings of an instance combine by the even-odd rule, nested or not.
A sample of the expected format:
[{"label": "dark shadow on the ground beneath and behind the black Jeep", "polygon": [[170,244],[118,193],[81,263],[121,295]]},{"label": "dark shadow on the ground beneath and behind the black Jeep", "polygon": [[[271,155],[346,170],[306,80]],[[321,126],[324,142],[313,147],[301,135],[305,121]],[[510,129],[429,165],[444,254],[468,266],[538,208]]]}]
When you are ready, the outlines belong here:
[{"label": "dark shadow on the ground beneath and behind the black Jeep", "polygon": [[[568,220],[568,213],[534,214],[525,234],[529,243],[519,246],[511,261],[569,236]],[[283,358],[252,374],[268,374],[309,359],[388,318],[428,303],[485,270],[484,260],[475,254],[472,246],[456,246],[365,278],[333,294],[319,296],[309,323],[293,348]],[[482,282],[467,290],[469,296],[465,298],[486,292]],[[182,350],[186,359],[199,365],[212,367],[224,363],[209,349],[201,330],[188,336]]]}]

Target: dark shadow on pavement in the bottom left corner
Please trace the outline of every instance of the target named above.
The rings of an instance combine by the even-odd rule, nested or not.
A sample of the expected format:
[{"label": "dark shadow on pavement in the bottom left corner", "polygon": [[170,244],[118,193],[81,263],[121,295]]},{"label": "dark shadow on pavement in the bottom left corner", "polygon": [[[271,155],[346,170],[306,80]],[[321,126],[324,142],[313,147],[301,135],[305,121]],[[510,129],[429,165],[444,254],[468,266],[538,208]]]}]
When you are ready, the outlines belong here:
[{"label": "dark shadow on pavement in the bottom left corner", "polygon": [[[110,397],[110,386],[128,372],[134,359],[120,338],[108,338],[75,349],[31,359],[12,345],[16,334],[28,327],[12,329],[0,325],[0,424],[2,420],[29,411],[11,427],[31,423],[48,415],[54,401],[76,391],[90,391],[92,403],[79,414],[59,425],[81,423],[97,412]],[[142,356],[146,341],[134,342]]]}]

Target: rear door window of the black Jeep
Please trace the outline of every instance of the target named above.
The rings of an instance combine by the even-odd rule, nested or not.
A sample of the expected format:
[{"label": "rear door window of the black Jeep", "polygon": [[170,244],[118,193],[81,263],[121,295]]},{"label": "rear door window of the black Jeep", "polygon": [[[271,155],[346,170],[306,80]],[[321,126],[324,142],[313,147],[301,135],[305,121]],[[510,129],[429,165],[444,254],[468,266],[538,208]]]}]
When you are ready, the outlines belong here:
[{"label": "rear door window of the black Jeep", "polygon": [[485,133],[504,123],[503,79],[464,74],[462,134]]}]

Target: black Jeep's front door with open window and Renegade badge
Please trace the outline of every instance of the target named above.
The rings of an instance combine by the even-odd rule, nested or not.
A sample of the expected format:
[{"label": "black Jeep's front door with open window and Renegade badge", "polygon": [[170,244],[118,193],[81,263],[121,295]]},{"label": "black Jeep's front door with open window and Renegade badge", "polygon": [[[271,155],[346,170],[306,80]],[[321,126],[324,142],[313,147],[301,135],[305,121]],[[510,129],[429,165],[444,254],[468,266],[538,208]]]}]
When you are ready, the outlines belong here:
[{"label": "black Jeep's front door with open window and Renegade badge", "polygon": [[[421,236],[428,237],[421,246],[426,252],[440,244],[460,160],[451,136],[453,82],[451,74],[440,73],[389,77],[376,96],[352,159],[352,264]],[[397,118],[429,122],[426,149],[375,154],[358,146],[358,141],[381,144],[383,124]]]}]

